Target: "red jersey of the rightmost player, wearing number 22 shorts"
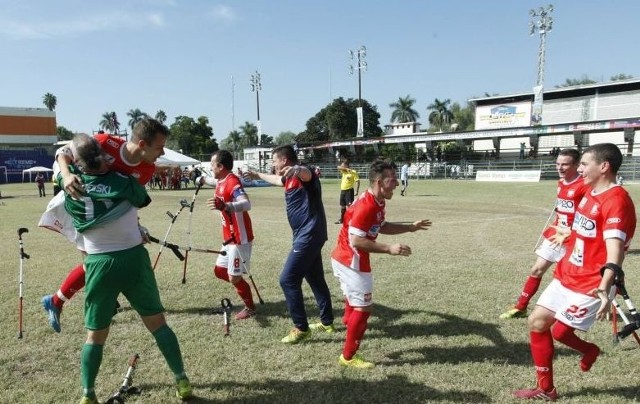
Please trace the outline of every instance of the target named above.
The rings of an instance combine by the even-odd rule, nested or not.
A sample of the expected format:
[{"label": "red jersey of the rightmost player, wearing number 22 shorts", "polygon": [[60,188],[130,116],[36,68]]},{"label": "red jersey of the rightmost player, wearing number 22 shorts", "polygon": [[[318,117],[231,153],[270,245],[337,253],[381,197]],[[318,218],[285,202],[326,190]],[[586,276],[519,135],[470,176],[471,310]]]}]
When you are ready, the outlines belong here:
[{"label": "red jersey of the rightmost player, wearing number 22 shorts", "polygon": [[600,285],[600,269],[607,263],[605,240],[619,238],[625,251],[636,229],[636,210],[627,191],[615,185],[604,192],[588,192],[580,201],[567,253],[555,277],[567,288],[587,294]]}]

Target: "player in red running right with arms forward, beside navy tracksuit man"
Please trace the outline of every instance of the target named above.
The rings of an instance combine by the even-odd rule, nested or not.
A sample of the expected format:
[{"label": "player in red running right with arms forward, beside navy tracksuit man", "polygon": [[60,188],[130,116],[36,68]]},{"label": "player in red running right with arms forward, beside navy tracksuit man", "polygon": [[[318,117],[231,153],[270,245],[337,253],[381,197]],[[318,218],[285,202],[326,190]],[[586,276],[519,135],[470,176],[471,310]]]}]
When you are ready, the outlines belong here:
[{"label": "player in red running right with arms forward, beside navy tracksuit man", "polygon": [[385,220],[385,200],[393,197],[398,186],[395,164],[376,160],[369,170],[369,189],[364,192],[345,213],[338,241],[331,254],[333,274],[340,281],[345,296],[342,323],[347,336],[338,363],[360,369],[372,368],[372,362],[356,354],[367,329],[367,320],[373,304],[373,278],[370,253],[408,256],[408,245],[376,242],[379,233],[401,234],[426,230],[429,220],[411,224],[391,223]]}]

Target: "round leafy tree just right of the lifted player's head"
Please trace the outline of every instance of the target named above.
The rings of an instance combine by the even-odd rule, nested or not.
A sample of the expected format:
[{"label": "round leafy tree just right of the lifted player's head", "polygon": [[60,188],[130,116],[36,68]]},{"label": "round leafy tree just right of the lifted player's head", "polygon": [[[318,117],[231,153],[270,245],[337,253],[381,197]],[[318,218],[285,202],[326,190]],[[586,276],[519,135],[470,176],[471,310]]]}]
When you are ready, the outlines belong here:
[{"label": "round leafy tree just right of the lifted player's head", "polygon": [[211,154],[218,150],[218,143],[213,138],[213,129],[205,116],[199,117],[197,121],[188,116],[178,116],[169,130],[171,140],[167,143],[172,148],[182,149],[184,154]]}]

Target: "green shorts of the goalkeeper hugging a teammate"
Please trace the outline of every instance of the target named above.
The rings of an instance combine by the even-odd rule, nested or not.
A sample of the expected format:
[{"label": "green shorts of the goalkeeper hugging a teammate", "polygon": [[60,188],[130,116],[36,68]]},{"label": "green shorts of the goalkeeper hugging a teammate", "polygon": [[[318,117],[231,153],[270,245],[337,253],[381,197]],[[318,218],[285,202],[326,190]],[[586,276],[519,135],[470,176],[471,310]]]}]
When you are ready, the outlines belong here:
[{"label": "green shorts of the goalkeeper hugging a teammate", "polygon": [[164,312],[149,253],[142,244],[124,251],[87,255],[84,326],[109,327],[122,293],[141,316]]}]

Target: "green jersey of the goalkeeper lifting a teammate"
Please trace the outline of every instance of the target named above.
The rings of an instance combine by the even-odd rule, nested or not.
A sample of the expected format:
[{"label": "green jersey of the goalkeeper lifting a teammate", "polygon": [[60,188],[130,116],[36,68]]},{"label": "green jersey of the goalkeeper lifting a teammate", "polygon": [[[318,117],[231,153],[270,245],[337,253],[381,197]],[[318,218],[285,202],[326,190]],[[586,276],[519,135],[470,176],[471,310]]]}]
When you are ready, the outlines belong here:
[{"label": "green jersey of the goalkeeper lifting a teammate", "polygon": [[[151,203],[147,191],[133,177],[111,171],[99,175],[83,174],[73,166],[69,169],[79,175],[84,184],[81,199],[65,195],[64,202],[64,208],[73,218],[73,226],[79,233],[122,217],[132,206],[142,208]],[[58,174],[56,183],[63,187],[61,174]]]}]

